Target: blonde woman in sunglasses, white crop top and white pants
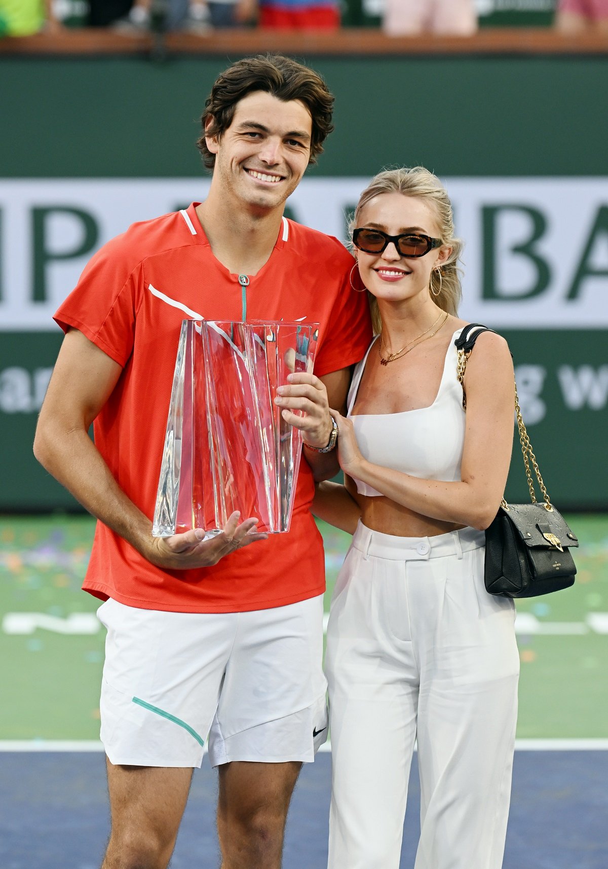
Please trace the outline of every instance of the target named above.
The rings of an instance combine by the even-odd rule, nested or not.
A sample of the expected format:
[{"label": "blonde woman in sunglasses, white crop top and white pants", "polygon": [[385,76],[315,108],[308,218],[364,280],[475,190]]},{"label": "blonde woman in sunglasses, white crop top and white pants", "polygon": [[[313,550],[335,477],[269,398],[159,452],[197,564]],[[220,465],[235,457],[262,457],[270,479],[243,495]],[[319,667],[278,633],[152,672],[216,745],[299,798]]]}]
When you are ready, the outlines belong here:
[{"label": "blonde woman in sunglasses, white crop top and white pants", "polygon": [[519,655],[512,600],[484,587],[484,528],[512,449],[506,342],[479,335],[464,387],[454,340],[461,242],[426,169],[381,172],[354,215],[374,338],[339,427],[346,488],[314,512],[354,533],[327,629],[330,869],[397,869],[414,741],[416,869],[499,869]]}]

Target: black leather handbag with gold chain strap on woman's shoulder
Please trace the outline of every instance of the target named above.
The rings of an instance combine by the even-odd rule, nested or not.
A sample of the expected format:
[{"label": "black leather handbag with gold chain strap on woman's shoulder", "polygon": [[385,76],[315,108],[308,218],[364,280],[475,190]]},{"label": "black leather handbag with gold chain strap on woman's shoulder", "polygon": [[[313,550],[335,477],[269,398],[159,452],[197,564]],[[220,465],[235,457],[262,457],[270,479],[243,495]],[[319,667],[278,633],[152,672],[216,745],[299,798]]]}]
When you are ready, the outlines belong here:
[{"label": "black leather handbag with gold chain strap on woman's shoulder", "polygon": [[[462,406],[465,410],[466,361],[478,335],[492,331],[493,329],[480,323],[469,323],[454,342],[458,355],[457,375],[462,387]],[[535,597],[572,586],[577,568],[570,548],[578,547],[578,538],[556,507],[553,507],[545,488],[519,408],[517,384],[515,414],[532,503],[507,504],[503,498],[496,518],[486,528],[484,578],[490,594]],[[542,503],[536,500],[531,465],[543,494]]]}]

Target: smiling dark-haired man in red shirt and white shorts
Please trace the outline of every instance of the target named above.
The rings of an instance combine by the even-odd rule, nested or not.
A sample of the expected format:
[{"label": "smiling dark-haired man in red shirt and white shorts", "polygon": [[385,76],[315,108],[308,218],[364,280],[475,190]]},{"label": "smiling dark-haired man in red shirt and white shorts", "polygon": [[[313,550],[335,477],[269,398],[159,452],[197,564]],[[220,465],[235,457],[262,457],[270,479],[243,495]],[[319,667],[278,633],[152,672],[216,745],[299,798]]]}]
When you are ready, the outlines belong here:
[{"label": "smiling dark-haired man in red shirt and white shorts", "polygon": [[[235,63],[202,116],[208,199],[109,242],[56,312],[66,335],[34,448],[99,520],[83,587],[105,600],[108,628],[103,869],[167,866],[209,732],[223,869],[278,869],[301,762],[327,736],[311,468],[317,479],[337,468],[327,407],[343,406],[370,329],[350,254],[283,209],[333,129],[332,109],[321,77],[299,63]],[[192,315],[321,324],[315,371],[327,396],[302,374],[278,399],[306,444],[289,534],[265,539],[255,519],[233,514],[210,540],[200,528],[151,536],[175,351]]]}]

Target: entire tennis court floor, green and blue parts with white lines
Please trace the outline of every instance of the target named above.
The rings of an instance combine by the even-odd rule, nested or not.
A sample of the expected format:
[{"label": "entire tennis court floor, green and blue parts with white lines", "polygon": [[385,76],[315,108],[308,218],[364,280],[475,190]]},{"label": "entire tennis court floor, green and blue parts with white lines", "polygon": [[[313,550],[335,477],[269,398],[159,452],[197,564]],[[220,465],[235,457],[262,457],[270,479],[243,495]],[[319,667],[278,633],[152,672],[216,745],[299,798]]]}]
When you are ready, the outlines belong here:
[{"label": "entire tennis court floor, green and blue parts with white lines", "polygon": [[[581,541],[577,583],[518,602],[519,750],[505,869],[608,866],[608,519],[571,521]],[[96,742],[103,633],[97,601],[80,591],[93,525],[85,516],[0,519],[0,652],[10,661],[0,673],[1,869],[97,869],[102,859],[109,831]],[[322,531],[329,594],[348,538]],[[303,768],[285,869],[326,865],[330,763],[324,752]],[[215,780],[205,758],[173,869],[219,866]],[[402,869],[413,867],[419,799],[413,768]]]}]

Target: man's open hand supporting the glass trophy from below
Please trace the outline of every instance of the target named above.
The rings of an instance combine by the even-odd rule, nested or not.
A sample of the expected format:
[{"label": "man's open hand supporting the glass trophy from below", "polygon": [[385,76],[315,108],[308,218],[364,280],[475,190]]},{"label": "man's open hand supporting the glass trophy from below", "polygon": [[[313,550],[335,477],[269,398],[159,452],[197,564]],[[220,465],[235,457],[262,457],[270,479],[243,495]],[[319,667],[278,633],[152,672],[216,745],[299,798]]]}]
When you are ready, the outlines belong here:
[{"label": "man's open hand supporting the glass trophy from below", "polygon": [[221,534],[205,540],[202,528],[193,528],[184,534],[171,537],[152,537],[149,551],[142,552],[144,558],[156,567],[166,570],[188,570],[191,567],[210,567],[217,564],[224,555],[248,546],[255,541],[268,540],[268,534],[254,532],[257,519],[246,519],[239,525],[241,514],[231,514]]}]

